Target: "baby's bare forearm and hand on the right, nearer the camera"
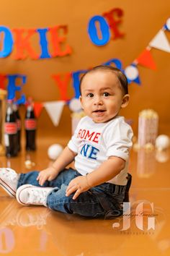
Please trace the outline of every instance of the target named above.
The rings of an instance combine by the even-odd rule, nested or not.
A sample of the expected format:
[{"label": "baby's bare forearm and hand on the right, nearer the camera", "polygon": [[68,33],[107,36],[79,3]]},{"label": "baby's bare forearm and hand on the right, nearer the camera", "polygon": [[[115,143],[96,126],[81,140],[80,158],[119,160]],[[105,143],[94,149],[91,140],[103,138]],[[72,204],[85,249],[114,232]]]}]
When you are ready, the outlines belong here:
[{"label": "baby's bare forearm and hand on the right, nearer the camera", "polygon": [[90,187],[109,181],[114,178],[125,167],[125,160],[116,156],[110,156],[107,161],[86,176],[78,176],[68,184],[66,196],[73,192],[73,199],[76,199],[82,192],[87,191]]}]

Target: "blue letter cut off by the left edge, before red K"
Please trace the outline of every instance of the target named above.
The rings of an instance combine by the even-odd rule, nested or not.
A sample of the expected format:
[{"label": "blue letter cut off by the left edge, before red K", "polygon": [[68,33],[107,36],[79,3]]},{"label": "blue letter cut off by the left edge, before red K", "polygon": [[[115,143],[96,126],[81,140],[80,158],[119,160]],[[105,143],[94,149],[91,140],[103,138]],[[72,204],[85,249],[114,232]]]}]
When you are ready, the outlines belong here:
[{"label": "blue letter cut off by the left edge, before red K", "polygon": [[[9,56],[12,52],[12,47],[14,40],[12,38],[12,33],[7,27],[0,27],[0,33],[4,32],[4,48],[0,51],[0,58]],[[0,34],[0,43],[1,43],[1,34]],[[2,43],[1,43],[2,44]]]}]

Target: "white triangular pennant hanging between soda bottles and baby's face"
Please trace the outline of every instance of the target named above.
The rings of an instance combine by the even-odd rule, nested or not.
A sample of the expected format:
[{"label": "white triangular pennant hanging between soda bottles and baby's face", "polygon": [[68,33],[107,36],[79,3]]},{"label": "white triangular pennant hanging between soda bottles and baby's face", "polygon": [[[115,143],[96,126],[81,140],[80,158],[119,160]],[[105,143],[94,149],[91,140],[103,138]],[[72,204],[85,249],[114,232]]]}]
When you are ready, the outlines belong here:
[{"label": "white triangular pennant hanging between soda bottles and baby's face", "polygon": [[61,119],[61,114],[63,111],[63,106],[65,101],[48,101],[43,103],[46,111],[48,112],[50,119],[53,121],[54,126],[59,124]]}]

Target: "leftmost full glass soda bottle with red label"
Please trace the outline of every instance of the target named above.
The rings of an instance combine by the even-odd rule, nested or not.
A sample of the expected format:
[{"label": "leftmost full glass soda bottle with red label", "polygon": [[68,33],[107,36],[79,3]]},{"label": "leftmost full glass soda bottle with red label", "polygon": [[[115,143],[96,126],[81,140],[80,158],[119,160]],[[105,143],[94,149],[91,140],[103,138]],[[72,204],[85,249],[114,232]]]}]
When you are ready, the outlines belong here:
[{"label": "leftmost full glass soda bottle with red label", "polygon": [[17,156],[17,117],[14,113],[12,100],[7,100],[6,117],[4,124],[4,144],[6,147],[6,156]]}]

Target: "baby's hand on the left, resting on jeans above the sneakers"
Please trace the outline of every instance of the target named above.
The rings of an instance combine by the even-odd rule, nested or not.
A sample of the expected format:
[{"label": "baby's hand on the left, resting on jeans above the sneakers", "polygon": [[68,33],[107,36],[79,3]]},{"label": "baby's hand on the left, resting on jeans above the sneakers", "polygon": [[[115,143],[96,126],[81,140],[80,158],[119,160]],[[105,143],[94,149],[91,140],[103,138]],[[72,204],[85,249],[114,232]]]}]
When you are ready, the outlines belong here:
[{"label": "baby's hand on the left, resting on jeans above the sneakers", "polygon": [[52,181],[53,179],[55,179],[55,177],[57,176],[57,172],[55,171],[55,168],[48,167],[43,171],[40,171],[40,173],[37,176],[37,181],[39,181],[40,186],[42,186],[45,181]]}]

